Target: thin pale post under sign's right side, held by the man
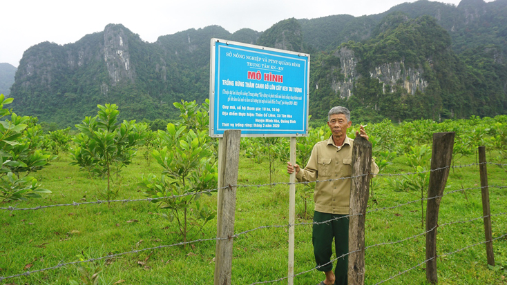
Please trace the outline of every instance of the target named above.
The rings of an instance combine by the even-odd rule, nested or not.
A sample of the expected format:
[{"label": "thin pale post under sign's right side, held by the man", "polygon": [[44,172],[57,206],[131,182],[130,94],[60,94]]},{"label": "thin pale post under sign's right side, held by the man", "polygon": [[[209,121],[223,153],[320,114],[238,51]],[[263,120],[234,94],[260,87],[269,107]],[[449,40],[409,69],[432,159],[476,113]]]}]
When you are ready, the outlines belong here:
[{"label": "thin pale post under sign's right side, held by the man", "polygon": [[[296,164],[296,137],[291,137],[291,164]],[[296,223],[296,173],[289,177],[289,285],[294,284],[294,224]]]}]

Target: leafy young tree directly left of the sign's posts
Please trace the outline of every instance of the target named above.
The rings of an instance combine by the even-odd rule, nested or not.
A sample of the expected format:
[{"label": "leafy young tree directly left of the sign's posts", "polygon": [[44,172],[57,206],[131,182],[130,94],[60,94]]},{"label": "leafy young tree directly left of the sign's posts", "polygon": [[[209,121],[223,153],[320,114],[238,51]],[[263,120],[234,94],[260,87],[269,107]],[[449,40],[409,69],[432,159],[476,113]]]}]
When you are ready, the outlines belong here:
[{"label": "leafy young tree directly left of the sign's posts", "polygon": [[195,101],[182,101],[174,106],[180,109],[182,119],[178,126],[169,123],[166,131],[158,130],[157,139],[162,149],[152,152],[157,164],[164,169],[162,176],[143,175],[139,185],[145,189],[146,196],[162,198],[152,202],[171,210],[162,217],[170,222],[176,219],[186,242],[195,226],[199,227],[197,235],[216,216],[216,210],[201,205],[198,199],[202,195],[200,192],[217,185],[217,159],[213,153],[214,141],[207,131],[208,102],[198,106]]}]

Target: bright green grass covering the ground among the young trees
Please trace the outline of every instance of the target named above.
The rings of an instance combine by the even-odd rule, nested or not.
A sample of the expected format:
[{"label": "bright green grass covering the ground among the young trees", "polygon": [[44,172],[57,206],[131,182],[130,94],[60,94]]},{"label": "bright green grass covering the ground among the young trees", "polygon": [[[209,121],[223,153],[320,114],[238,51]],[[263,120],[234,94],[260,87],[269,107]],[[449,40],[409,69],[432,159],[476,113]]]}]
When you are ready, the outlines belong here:
[{"label": "bright green grass covering the ground among the young trees", "polygon": [[[96,201],[99,188],[106,186],[102,179],[91,180],[77,166],[69,166],[66,156],[44,168],[35,177],[52,194],[28,202],[1,204],[1,207],[19,208],[39,205],[68,204]],[[455,164],[475,162],[475,155],[463,157]],[[238,184],[268,184],[269,173],[265,164],[255,164],[251,159],[240,159]],[[122,172],[122,190],[119,199],[144,198],[137,182],[142,173],[159,175],[162,169],[152,161],[146,164],[138,155],[133,164]],[[403,159],[394,159],[383,173],[410,172]],[[489,185],[506,186],[506,171],[488,165]],[[285,164],[278,164],[274,179],[287,182]],[[376,177],[380,181],[383,177]],[[460,188],[479,187],[478,166],[455,168],[450,171],[446,192]],[[302,186],[298,186],[300,188]],[[490,187],[492,214],[507,211],[506,190]],[[381,182],[368,209],[384,208],[417,200],[419,193],[394,192]],[[216,207],[216,193],[203,196],[202,201]],[[313,203],[309,203],[311,217]],[[56,266],[59,263],[102,257],[115,253],[171,245],[181,242],[176,224],[160,217],[166,210],[150,202],[91,204],[60,206],[41,210],[0,211],[0,276],[17,275],[26,271]],[[296,223],[311,222],[302,219],[303,201],[296,194]],[[240,233],[252,228],[288,224],[289,187],[286,185],[239,187],[236,204],[235,231]],[[466,190],[446,195],[441,200],[439,224],[466,221],[481,217],[480,189]],[[138,222],[128,222],[131,220]],[[493,237],[507,233],[507,216],[492,218]],[[194,239],[216,237],[216,219],[204,227],[204,233]],[[421,228],[421,203],[414,202],[390,210],[378,210],[367,214],[365,228],[366,245],[396,242],[419,233]],[[191,235],[195,231],[191,232]],[[233,245],[233,284],[252,284],[275,280],[287,275],[287,228],[262,228],[240,235]],[[450,253],[484,240],[482,220],[452,224],[438,228],[437,252]],[[99,284],[213,284],[215,241],[195,242],[187,246],[171,246],[140,253],[121,255],[82,264],[90,273],[101,268]],[[425,236],[392,245],[374,246],[366,250],[365,284],[376,284],[405,271],[425,259]],[[495,261],[507,267],[507,239],[494,243]],[[333,257],[334,258],[334,257]],[[312,227],[296,227],[295,273],[314,268]],[[437,260],[439,284],[506,284],[506,271],[492,270],[486,264],[484,244],[459,253],[439,257]],[[394,277],[384,284],[426,284],[424,265]],[[499,269],[499,267],[497,267]],[[79,280],[76,265],[32,273],[28,276],[5,279],[0,284],[69,284],[69,279]],[[298,275],[294,284],[317,284],[323,273],[310,271]],[[124,281],[122,281],[124,280]],[[286,284],[287,280],[271,284]]]}]

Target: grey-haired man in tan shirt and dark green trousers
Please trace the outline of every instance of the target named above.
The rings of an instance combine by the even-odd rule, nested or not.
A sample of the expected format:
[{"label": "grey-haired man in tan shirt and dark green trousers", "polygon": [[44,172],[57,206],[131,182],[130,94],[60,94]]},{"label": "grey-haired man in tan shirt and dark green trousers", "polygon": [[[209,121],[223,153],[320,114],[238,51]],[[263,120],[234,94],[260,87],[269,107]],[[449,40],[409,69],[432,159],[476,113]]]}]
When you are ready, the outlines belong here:
[{"label": "grey-haired man in tan shirt and dark green trousers", "polygon": [[[349,251],[349,203],[350,179],[340,179],[352,175],[352,145],[354,139],[347,137],[347,128],[352,126],[350,112],[337,106],[329,110],[327,126],[331,137],[318,142],[312,150],[307,166],[301,169],[298,164],[287,164],[287,173],[296,172],[298,181],[317,182],[314,193],[315,213],[312,242],[318,271],[325,272],[325,280],[319,285],[347,284]],[[361,126],[356,136],[368,139],[365,128]],[[372,162],[372,172],[379,173],[379,167]],[[330,222],[326,222],[330,221]],[[333,264],[332,242],[336,250],[336,268]],[[343,257],[342,255],[345,255]]]}]

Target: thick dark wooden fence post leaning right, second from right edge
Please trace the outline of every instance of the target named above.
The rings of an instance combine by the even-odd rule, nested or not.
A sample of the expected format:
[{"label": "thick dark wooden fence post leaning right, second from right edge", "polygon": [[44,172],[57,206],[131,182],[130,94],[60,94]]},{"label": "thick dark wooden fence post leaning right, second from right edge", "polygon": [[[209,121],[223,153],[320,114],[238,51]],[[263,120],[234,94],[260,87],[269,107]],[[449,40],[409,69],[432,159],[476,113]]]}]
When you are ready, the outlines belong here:
[{"label": "thick dark wooden fence post leaning right, second from right edge", "polygon": [[[446,187],[452,161],[452,148],[455,143],[455,132],[437,132],[433,134],[433,150],[431,155],[430,185],[428,186],[428,202],[426,202],[426,280],[437,284],[437,226],[439,208],[443,189]],[[439,170],[435,170],[441,168]]]}]

